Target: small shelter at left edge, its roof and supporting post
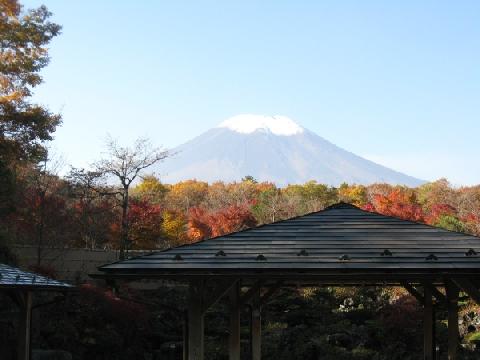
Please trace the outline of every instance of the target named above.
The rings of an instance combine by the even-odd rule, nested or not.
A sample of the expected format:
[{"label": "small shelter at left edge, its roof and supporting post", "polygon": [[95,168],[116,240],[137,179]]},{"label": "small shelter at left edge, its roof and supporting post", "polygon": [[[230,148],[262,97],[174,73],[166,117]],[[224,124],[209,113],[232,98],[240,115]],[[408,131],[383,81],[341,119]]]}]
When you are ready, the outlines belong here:
[{"label": "small shelter at left edge, its roof and supporting post", "polygon": [[18,320],[17,358],[29,360],[31,357],[31,326],[33,294],[37,292],[64,292],[71,285],[50,279],[40,274],[23,271],[19,268],[0,264],[0,294],[9,296],[17,305],[15,313],[0,312],[0,318],[13,315]]}]

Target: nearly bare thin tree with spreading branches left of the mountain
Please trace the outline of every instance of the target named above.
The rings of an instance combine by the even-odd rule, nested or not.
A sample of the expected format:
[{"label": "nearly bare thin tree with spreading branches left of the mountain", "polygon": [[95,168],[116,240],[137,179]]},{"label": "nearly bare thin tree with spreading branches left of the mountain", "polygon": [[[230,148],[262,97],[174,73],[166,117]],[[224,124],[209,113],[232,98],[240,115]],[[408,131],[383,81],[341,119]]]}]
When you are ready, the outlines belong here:
[{"label": "nearly bare thin tree with spreading branches left of the mountain", "polygon": [[130,244],[129,217],[130,186],[139,178],[141,173],[150,166],[169,156],[168,151],[153,147],[149,140],[138,139],[133,147],[121,146],[112,138],[106,141],[107,157],[95,164],[95,171],[112,181],[113,192],[120,201],[121,231],[120,231],[120,258],[125,259]]}]

